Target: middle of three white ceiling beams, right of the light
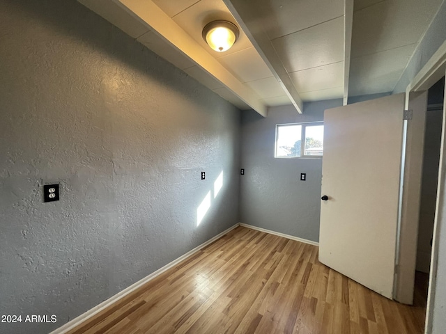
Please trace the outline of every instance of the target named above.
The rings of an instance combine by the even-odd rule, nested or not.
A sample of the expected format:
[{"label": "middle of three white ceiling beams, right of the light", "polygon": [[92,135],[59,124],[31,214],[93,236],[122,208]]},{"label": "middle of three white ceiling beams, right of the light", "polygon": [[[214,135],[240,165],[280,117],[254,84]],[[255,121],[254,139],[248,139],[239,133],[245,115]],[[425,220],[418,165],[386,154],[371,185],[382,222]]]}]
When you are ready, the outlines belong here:
[{"label": "middle of three white ceiling beams, right of the light", "polygon": [[295,90],[293,81],[291,81],[275,48],[272,46],[268,34],[263,29],[261,20],[256,19],[255,6],[252,6],[252,3],[246,0],[223,0],[223,2],[229,8],[233,17],[236,18],[237,23],[263,58],[263,61],[268,65],[272,74],[279,81],[280,86],[282,86],[282,89],[288,95],[295,109],[298,113],[302,113],[302,99],[298,91]]}]

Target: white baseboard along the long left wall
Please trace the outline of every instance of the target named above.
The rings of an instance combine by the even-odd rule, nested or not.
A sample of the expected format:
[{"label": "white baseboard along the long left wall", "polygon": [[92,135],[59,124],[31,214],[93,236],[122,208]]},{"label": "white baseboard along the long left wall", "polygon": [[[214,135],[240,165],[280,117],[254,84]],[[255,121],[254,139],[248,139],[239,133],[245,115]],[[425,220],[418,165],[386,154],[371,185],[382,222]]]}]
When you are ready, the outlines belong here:
[{"label": "white baseboard along the long left wall", "polygon": [[71,321],[68,321],[66,324],[64,324],[63,326],[57,328],[56,330],[52,331],[49,334],[64,334],[64,333],[67,333],[68,331],[71,331],[72,328],[75,328],[76,326],[79,326],[79,324],[82,324],[82,322],[84,322],[87,319],[90,319],[91,317],[97,315],[99,312],[101,312],[102,310],[105,310],[105,308],[108,308],[110,305],[112,305],[113,303],[116,303],[118,300],[120,300],[123,297],[127,296],[131,292],[134,292],[134,290],[136,290],[139,287],[141,287],[142,285],[150,282],[151,280],[153,280],[153,278],[155,278],[155,277],[159,276],[160,274],[164,273],[164,271],[167,271],[168,269],[171,269],[172,267],[176,266],[176,264],[178,264],[179,262],[185,260],[186,257],[190,257],[190,255],[192,255],[194,253],[197,253],[199,250],[201,250],[202,248],[208,246],[208,244],[213,243],[213,241],[219,239],[220,237],[222,237],[227,232],[233,230],[234,228],[237,228],[238,225],[240,225],[240,224],[237,223],[236,225],[233,225],[231,228],[228,228],[227,230],[224,230],[223,232],[217,234],[215,237],[209,239],[205,243],[195,247],[194,249],[188,251],[184,255],[181,255],[176,260],[166,264],[164,267],[158,269],[157,271],[154,271],[153,273],[151,273],[150,275],[146,276],[145,278],[139,280],[138,282],[133,283],[132,285],[130,285],[130,287],[127,287],[127,288],[123,289],[122,291],[118,292],[117,294],[115,294],[114,296],[110,297],[106,301],[103,301],[102,303],[100,303],[99,305],[96,305],[91,310],[88,310],[85,313],[83,313],[82,315],[79,315],[79,317],[76,317],[75,319],[72,319]]}]

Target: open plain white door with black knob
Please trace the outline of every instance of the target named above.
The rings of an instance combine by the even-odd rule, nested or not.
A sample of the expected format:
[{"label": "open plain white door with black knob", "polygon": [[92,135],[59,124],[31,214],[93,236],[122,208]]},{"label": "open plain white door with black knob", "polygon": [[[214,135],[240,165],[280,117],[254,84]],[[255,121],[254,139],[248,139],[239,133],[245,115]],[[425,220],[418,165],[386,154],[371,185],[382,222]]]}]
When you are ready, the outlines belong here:
[{"label": "open plain white door with black knob", "polygon": [[325,111],[319,260],[392,298],[404,94]]}]

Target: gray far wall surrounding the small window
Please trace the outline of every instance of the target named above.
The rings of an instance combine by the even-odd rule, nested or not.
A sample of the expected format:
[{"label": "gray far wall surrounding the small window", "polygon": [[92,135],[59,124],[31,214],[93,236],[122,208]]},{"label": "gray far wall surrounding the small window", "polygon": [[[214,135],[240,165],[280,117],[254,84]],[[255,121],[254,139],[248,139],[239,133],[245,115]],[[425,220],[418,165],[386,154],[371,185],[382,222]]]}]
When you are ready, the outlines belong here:
[{"label": "gray far wall surrounding the small window", "polygon": [[[242,116],[240,221],[259,228],[318,241],[322,159],[276,159],[277,124],[323,120],[323,111],[342,100],[307,103],[299,115],[293,106],[270,108],[267,118],[254,111]],[[307,181],[300,181],[307,173]]]}]

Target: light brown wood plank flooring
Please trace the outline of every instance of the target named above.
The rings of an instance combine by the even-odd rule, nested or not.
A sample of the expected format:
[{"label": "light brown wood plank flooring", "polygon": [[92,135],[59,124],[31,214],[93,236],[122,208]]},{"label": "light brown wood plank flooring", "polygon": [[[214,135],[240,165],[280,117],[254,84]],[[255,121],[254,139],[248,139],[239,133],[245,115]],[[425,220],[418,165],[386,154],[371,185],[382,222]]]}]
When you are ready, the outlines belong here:
[{"label": "light brown wood plank flooring", "polygon": [[426,277],[402,305],[318,262],[318,248],[238,227],[79,333],[423,333]]}]

